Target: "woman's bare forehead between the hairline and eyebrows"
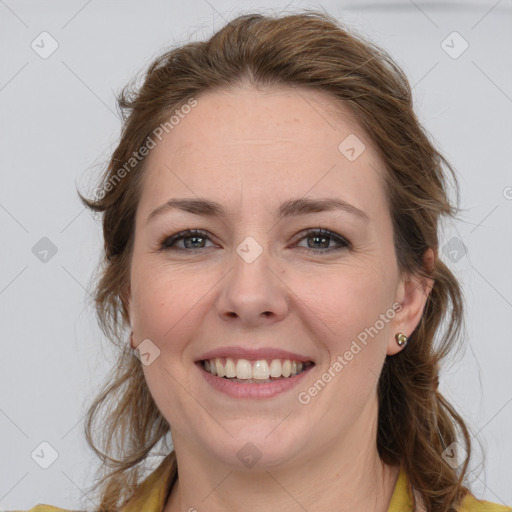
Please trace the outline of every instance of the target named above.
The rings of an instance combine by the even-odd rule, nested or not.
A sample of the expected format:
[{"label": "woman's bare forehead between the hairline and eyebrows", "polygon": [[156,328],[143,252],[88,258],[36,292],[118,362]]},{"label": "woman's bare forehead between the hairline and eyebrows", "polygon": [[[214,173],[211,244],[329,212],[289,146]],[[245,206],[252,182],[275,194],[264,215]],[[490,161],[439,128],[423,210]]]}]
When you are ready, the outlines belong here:
[{"label": "woman's bare forehead between the hairline and eyebrows", "polygon": [[229,209],[229,197],[242,193],[260,203],[339,196],[369,215],[384,206],[383,164],[371,140],[327,95],[244,87],[195,99],[150,151],[139,209],[194,196]]}]

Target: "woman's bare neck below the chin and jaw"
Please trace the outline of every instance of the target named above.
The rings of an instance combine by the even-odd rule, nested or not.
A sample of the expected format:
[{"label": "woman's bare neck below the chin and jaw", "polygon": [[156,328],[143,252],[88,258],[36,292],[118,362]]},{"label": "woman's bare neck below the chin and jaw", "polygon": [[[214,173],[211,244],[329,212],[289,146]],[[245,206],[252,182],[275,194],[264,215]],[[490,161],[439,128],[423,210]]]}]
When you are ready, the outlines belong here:
[{"label": "woman's bare neck below the chin and jaw", "polygon": [[250,471],[208,459],[172,432],[179,478],[164,512],[386,512],[399,468],[382,463],[376,416],[373,421],[363,416],[342,442],[317,446],[313,457],[286,467],[254,466]]}]

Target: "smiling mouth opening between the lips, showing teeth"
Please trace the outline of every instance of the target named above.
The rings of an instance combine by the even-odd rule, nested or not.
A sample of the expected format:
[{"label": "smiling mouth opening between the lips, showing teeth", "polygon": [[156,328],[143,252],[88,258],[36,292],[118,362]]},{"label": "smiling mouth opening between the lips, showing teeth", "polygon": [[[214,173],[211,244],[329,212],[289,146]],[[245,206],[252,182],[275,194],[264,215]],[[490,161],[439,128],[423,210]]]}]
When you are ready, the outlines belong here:
[{"label": "smiling mouth opening between the lips, showing teeth", "polygon": [[291,379],[312,366],[313,361],[296,359],[244,359],[216,357],[197,362],[210,375],[240,384],[265,384]]}]

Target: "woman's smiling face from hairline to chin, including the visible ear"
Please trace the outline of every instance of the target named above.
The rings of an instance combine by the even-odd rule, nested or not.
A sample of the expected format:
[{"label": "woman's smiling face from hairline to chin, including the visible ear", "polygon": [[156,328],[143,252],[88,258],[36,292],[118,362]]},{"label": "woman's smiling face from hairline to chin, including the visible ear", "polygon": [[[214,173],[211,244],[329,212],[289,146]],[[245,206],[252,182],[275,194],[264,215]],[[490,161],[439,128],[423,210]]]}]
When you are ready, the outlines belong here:
[{"label": "woman's smiling face from hairline to chin, including the visible ear", "polygon": [[[383,164],[319,92],[196,99],[150,151],[136,215],[127,296],[151,394],[177,450],[211,461],[284,467],[343,443],[357,451],[375,438],[386,354],[425,297],[397,268]],[[162,207],[171,199],[224,213]],[[187,229],[200,233],[170,239]],[[287,373],[286,359],[314,365],[238,383],[203,368],[216,350],[241,379]]]}]

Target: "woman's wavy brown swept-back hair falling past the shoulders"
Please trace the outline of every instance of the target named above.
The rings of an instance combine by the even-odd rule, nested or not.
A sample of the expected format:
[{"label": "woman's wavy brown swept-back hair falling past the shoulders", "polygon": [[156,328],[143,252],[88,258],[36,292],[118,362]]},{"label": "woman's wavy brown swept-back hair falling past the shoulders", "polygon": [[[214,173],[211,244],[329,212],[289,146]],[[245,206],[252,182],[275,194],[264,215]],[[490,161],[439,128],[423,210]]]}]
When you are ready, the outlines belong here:
[{"label": "woman's wavy brown swept-back hair falling past the shoulders", "polygon": [[[137,494],[144,463],[169,433],[126,341],[129,319],[123,293],[144,172],[140,150],[191,98],[245,82],[322,91],[355,114],[386,166],[402,271],[425,274],[422,256],[427,248],[437,255],[440,219],[456,213],[448,197],[450,177],[457,190],[454,171],[416,118],[404,73],[385,51],[329,15],[310,10],[282,17],[242,15],[208,41],[158,57],[138,89],[128,85],[120,94],[124,125],[97,189],[101,193],[93,199],[80,196],[103,213],[104,265],[95,303],[101,327],[119,349],[115,370],[90,406],[85,425],[87,441],[105,473],[94,486],[100,489],[101,510],[118,510]],[[438,376],[441,360],[459,340],[463,304],[456,278],[438,258],[428,275],[434,286],[419,325],[406,349],[386,358],[380,376],[377,445],[383,462],[404,465],[428,511],[448,512],[469,492],[463,481],[471,442],[463,419],[438,391]],[[443,334],[434,343],[443,322]],[[442,456],[455,441],[464,443],[468,453],[458,469]],[[172,449],[166,450],[170,490],[177,463]]]}]

